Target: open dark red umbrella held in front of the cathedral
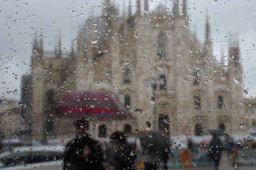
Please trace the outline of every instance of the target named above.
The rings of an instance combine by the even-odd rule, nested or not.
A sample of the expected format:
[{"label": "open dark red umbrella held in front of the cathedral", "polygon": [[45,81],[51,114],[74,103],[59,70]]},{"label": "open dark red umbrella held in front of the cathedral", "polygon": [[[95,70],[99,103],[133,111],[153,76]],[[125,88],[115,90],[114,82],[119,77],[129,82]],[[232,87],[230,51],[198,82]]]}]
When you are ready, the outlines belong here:
[{"label": "open dark red umbrella held in front of the cathedral", "polygon": [[130,118],[128,109],[117,99],[100,91],[73,91],[63,94],[50,106],[61,118],[123,120]]}]

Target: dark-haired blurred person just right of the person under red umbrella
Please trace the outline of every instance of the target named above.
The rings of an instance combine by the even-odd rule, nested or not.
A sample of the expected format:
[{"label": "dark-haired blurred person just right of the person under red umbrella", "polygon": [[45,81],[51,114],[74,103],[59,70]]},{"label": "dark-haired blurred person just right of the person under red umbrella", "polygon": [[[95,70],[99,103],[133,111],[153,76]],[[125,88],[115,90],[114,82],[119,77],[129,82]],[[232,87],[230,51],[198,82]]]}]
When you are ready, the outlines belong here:
[{"label": "dark-haired blurred person just right of the person under red umbrella", "polygon": [[110,135],[110,150],[107,154],[111,164],[109,170],[134,169],[135,147],[127,143],[124,132],[117,131]]}]

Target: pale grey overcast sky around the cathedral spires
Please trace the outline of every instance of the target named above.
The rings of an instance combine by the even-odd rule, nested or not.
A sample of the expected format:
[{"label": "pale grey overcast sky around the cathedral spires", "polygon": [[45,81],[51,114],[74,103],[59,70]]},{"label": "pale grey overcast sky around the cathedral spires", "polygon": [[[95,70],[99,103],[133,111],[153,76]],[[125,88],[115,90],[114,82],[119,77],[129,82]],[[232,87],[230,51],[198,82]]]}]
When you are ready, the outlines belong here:
[{"label": "pale grey overcast sky around the cathedral spires", "polygon": [[[210,31],[214,39],[214,52],[227,55],[228,33],[238,33],[240,55],[244,66],[244,89],[248,98],[256,97],[256,1],[245,0],[187,0],[191,30],[203,42],[206,11],[210,18]],[[159,4],[171,10],[173,1],[150,2],[150,10]],[[127,0],[116,1],[120,11]],[[135,6],[135,1],[132,1]],[[30,74],[31,42],[33,35],[43,33],[44,49],[53,51],[60,34],[63,50],[70,50],[78,28],[90,15],[100,13],[102,1],[85,0],[29,0],[0,2],[0,95],[19,101],[21,77]],[[135,7],[133,7],[134,10]]]}]

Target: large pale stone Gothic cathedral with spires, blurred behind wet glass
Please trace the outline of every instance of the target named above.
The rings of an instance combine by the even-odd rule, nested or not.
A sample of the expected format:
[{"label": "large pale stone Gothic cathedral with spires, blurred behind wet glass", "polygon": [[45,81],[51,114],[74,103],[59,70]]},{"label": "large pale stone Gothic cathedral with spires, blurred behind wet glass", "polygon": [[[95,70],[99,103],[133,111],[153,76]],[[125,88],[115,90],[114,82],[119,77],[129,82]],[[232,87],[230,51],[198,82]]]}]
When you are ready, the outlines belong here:
[{"label": "large pale stone Gothic cathedral with spires, blurred behind wet glass", "polygon": [[202,135],[216,128],[240,132],[245,98],[237,38],[230,35],[228,57],[216,60],[209,18],[201,42],[189,25],[186,0],[173,3],[172,10],[158,6],[149,11],[149,1],[138,0],[136,11],[129,4],[119,13],[106,0],[102,16],[87,19],[70,52],[63,52],[61,40],[55,52],[47,52],[43,36],[36,37],[31,57],[33,136],[73,134],[73,120],[49,115],[46,107],[77,90],[114,94],[135,118],[92,123],[99,134],[102,125],[109,134],[127,124],[132,131],[170,135]]}]

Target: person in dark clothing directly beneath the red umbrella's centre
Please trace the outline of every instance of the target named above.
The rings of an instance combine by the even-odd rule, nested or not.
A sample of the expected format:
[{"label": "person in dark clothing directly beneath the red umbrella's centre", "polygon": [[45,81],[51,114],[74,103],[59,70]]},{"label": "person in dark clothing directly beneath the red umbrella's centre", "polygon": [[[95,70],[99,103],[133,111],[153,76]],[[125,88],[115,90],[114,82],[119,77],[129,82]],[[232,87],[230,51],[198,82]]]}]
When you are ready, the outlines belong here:
[{"label": "person in dark clothing directly beneath the red umbrella's centre", "polygon": [[65,147],[64,170],[102,170],[103,152],[100,142],[88,135],[89,121],[78,118],[75,121],[76,138]]}]

